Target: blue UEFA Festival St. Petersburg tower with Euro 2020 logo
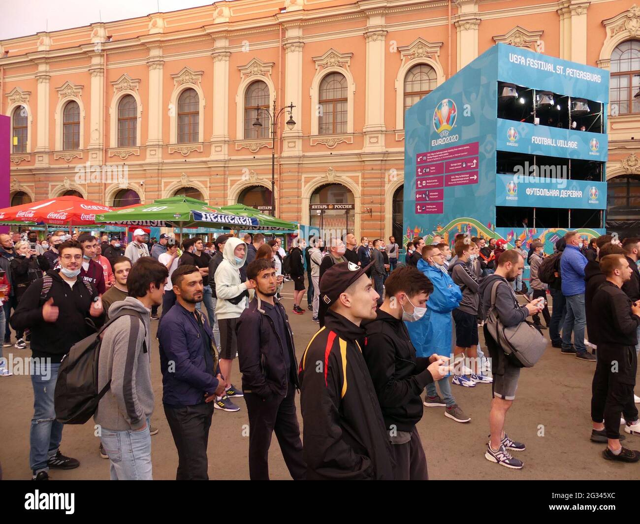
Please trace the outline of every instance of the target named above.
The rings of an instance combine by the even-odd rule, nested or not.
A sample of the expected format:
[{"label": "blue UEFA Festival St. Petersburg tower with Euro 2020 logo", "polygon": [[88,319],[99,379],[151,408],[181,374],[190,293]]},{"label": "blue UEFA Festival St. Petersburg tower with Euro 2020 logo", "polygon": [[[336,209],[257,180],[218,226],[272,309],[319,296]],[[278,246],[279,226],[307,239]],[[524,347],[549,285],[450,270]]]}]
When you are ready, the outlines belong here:
[{"label": "blue UEFA Festival St. Petersburg tower with Euro 2020 logo", "polygon": [[403,243],[604,233],[609,72],[494,45],[404,115]]}]

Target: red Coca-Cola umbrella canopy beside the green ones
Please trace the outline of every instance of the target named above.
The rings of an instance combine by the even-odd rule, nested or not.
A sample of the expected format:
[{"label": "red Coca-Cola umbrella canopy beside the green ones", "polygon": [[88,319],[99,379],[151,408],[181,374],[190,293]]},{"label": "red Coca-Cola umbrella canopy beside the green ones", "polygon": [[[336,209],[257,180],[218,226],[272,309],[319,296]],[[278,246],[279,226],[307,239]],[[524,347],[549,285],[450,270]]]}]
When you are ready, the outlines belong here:
[{"label": "red Coca-Cola umbrella canopy beside the green ones", "polygon": [[93,225],[97,213],[106,213],[114,209],[80,197],[54,197],[0,209],[0,223]]}]

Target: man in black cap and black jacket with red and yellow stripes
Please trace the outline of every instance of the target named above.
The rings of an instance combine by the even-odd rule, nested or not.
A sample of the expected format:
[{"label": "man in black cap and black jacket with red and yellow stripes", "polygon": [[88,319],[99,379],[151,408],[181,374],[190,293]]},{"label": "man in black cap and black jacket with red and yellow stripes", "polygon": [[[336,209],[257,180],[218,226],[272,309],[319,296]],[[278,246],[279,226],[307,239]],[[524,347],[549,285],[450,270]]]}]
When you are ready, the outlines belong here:
[{"label": "man in black cap and black jacket with red and yellow stripes", "polygon": [[329,309],[300,362],[307,479],[394,479],[392,450],[358,339],[376,318],[371,264],[341,262],[320,281]]}]

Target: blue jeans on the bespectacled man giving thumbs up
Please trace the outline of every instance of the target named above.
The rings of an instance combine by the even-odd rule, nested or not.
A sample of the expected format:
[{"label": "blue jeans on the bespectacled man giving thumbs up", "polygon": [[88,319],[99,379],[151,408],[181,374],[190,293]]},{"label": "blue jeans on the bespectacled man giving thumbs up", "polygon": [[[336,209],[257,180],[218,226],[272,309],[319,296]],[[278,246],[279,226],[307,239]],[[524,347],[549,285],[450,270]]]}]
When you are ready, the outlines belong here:
[{"label": "blue jeans on the bespectacled man giving thumbs up", "polygon": [[53,405],[53,393],[56,389],[59,369],[60,364],[35,366],[33,359],[31,360],[34,413],[29,435],[31,445],[29,466],[33,473],[49,471],[47,459],[56,455],[62,440],[63,424],[56,420],[56,410]]}]

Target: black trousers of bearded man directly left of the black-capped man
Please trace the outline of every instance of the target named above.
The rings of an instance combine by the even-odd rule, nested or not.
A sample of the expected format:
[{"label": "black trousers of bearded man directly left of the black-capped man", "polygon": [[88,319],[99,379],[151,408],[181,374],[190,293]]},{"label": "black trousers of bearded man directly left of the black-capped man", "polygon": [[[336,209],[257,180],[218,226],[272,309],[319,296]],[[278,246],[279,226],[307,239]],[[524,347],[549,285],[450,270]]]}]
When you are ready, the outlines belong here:
[{"label": "black trousers of bearded man directly left of the black-capped man", "polygon": [[289,383],[287,396],[271,395],[262,400],[255,393],[244,393],[249,415],[249,477],[269,480],[269,446],[276,434],[280,451],[293,480],[305,480],[307,464],[302,458],[300,426],[296,416],[296,389]]}]

